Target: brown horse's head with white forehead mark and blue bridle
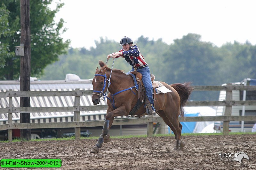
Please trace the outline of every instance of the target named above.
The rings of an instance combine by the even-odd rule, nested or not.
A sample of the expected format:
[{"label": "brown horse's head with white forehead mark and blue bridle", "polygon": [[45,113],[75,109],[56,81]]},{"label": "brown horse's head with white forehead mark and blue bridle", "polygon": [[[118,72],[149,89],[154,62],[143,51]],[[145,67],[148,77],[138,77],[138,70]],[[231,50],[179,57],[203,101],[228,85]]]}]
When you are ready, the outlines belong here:
[{"label": "brown horse's head with white forehead mark and blue bridle", "polygon": [[100,103],[100,97],[107,90],[107,76],[105,74],[107,66],[103,61],[99,61],[100,69],[97,67],[94,78],[92,80],[93,93],[92,102],[93,105]]}]

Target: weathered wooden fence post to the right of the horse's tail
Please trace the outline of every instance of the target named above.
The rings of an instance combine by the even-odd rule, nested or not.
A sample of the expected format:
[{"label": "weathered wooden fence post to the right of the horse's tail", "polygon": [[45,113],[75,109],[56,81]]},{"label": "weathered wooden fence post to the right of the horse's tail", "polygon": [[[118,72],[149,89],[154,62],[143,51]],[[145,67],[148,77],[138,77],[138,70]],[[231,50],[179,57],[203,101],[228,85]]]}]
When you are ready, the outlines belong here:
[{"label": "weathered wooden fence post to the right of the horse's tail", "polygon": [[[228,83],[227,85],[227,91],[226,91],[226,101],[227,100],[232,100],[232,90],[230,87],[230,83]],[[226,105],[226,109],[224,112],[224,116],[230,116],[232,113],[232,105]],[[229,132],[229,121],[223,121],[223,135],[228,135]]]}]

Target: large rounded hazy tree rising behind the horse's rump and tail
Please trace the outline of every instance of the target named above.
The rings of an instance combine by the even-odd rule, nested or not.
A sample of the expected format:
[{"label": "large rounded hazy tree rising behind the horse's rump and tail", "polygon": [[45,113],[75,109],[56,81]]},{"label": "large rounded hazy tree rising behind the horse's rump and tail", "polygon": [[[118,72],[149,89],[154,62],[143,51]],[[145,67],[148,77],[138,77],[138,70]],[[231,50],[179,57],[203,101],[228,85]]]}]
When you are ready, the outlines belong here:
[{"label": "large rounded hazy tree rising behind the horse's rump and tail", "polygon": [[[219,85],[217,70],[221,57],[219,48],[211,42],[200,41],[201,35],[189,33],[174,40],[165,55],[166,82],[192,82],[192,85]],[[193,92],[191,100],[212,100],[218,93]]]}]

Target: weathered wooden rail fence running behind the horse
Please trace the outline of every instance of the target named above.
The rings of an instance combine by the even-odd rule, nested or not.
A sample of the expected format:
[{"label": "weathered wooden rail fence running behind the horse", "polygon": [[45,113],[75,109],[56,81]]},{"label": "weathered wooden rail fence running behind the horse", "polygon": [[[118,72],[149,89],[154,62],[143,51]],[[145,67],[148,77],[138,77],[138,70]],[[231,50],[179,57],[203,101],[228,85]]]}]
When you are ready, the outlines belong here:
[{"label": "weathered wooden rail fence running behind the horse", "polygon": [[[186,106],[226,106],[223,116],[200,116],[179,118],[180,122],[208,122],[223,121],[223,134],[228,135],[230,121],[256,121],[256,116],[232,116],[232,106],[256,106],[256,100],[234,101],[232,90],[255,91],[256,86],[193,86],[194,91],[227,91],[224,101],[189,101]],[[91,95],[92,90],[84,91],[41,91],[41,92],[17,92],[9,90],[0,92],[0,98],[9,98],[9,107],[0,108],[0,113],[8,113],[8,123],[0,125],[0,130],[8,129],[8,140],[12,141],[12,129],[41,129],[41,128],[75,128],[75,137],[80,139],[81,127],[103,126],[103,121],[81,122],[81,111],[106,110],[107,105],[80,106],[80,96]],[[12,107],[12,97],[40,97],[40,96],[75,96],[73,107]],[[74,122],[49,122],[49,123],[12,123],[12,113],[44,113],[44,112],[74,112]],[[153,136],[153,122],[163,122],[161,117],[147,116],[144,118],[115,119],[113,125],[148,124],[148,136]]]}]

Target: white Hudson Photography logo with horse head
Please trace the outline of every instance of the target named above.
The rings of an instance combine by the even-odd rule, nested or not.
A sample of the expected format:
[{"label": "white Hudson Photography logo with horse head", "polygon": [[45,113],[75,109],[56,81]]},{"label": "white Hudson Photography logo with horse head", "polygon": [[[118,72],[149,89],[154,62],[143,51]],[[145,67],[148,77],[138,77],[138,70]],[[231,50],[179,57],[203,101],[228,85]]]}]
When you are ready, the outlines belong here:
[{"label": "white Hudson Photography logo with horse head", "polygon": [[219,158],[220,161],[238,161],[242,163],[242,159],[250,159],[247,156],[247,153],[244,152],[237,152],[237,153],[225,153],[225,152],[219,152]]}]

